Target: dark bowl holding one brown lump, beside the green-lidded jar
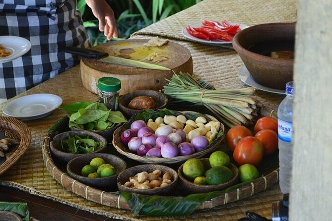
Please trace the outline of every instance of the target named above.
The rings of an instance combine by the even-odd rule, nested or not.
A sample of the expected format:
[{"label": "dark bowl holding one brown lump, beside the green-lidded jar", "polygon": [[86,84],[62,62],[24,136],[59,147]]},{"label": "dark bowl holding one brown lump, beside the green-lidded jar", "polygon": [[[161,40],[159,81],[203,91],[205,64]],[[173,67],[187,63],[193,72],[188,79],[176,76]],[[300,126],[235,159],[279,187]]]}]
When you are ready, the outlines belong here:
[{"label": "dark bowl holding one brown lump, beside the green-lidded jar", "polygon": [[148,96],[151,97],[154,102],[156,103],[156,108],[153,110],[162,109],[166,106],[168,99],[167,96],[163,93],[153,90],[141,90],[141,91],[134,91],[132,93],[128,93],[125,95],[120,96],[119,98],[119,110],[125,114],[126,117],[130,118],[136,112],[140,110],[134,110],[128,108],[129,103],[137,96]]}]

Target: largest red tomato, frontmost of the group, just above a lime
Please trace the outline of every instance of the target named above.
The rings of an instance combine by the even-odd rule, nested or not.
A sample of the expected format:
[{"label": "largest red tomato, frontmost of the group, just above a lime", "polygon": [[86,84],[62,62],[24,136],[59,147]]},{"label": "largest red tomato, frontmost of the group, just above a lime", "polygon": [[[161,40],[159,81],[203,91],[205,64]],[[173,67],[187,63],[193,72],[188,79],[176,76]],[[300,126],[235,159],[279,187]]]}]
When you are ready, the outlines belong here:
[{"label": "largest red tomato, frontmost of the group, just above a lime", "polygon": [[264,155],[262,142],[253,136],[247,136],[240,140],[233,152],[234,160],[241,166],[251,164],[258,166]]}]

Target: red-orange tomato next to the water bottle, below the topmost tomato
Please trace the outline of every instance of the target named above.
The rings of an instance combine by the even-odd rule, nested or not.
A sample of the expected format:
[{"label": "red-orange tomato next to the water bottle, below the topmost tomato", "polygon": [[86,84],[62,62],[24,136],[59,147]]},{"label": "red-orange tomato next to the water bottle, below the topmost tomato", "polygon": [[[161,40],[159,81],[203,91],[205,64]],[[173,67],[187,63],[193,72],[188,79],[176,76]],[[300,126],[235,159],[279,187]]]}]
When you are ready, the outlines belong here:
[{"label": "red-orange tomato next to the water bottle, below the topmost tomato", "polygon": [[272,154],[278,149],[278,134],[274,130],[260,130],[255,137],[262,142],[265,155]]}]

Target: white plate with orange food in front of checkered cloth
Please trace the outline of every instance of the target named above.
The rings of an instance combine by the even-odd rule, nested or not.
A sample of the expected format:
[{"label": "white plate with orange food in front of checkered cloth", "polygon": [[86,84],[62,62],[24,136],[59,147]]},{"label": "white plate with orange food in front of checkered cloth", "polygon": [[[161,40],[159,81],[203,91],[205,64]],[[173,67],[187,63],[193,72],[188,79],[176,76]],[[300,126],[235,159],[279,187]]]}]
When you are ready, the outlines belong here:
[{"label": "white plate with orange food in front of checkered cloth", "polygon": [[0,63],[12,61],[31,49],[31,43],[25,38],[18,36],[0,36],[0,45],[2,45],[6,51],[11,52],[8,56],[0,57]]}]

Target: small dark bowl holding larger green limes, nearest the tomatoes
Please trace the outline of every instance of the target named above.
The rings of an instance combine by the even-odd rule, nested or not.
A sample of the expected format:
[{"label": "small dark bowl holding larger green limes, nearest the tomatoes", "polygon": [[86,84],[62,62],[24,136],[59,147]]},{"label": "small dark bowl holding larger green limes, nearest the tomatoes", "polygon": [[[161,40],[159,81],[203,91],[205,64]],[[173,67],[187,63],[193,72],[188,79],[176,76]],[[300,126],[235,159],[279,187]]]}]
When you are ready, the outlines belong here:
[{"label": "small dark bowl holding larger green limes, nearest the tomatoes", "polygon": [[[205,171],[209,168],[211,168],[209,164],[208,158],[200,159],[204,165]],[[198,185],[193,183],[192,181],[189,181],[184,177],[184,174],[182,172],[183,164],[178,169],[178,175],[179,175],[179,188],[186,193],[208,193],[212,191],[217,190],[223,190],[227,187],[233,186],[236,183],[239,182],[239,169],[234,164],[229,164],[228,168],[230,168],[233,172],[233,178],[230,179],[227,182],[220,183],[217,185]]]}]

